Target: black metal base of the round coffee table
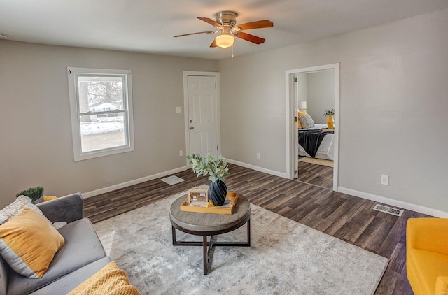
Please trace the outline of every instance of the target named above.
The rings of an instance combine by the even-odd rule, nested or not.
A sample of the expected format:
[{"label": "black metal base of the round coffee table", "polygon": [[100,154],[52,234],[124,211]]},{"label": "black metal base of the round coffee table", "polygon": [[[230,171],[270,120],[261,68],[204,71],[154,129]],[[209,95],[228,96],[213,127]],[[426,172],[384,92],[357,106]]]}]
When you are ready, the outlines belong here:
[{"label": "black metal base of the round coffee table", "polygon": [[251,219],[249,218],[247,224],[247,242],[215,242],[213,240],[214,235],[210,235],[210,241],[208,241],[208,235],[202,235],[202,242],[190,242],[190,241],[178,241],[176,240],[176,228],[172,226],[172,236],[174,246],[202,246],[203,259],[204,259],[204,275],[208,275],[211,266],[211,252],[215,246],[227,246],[227,247],[251,247]]}]

